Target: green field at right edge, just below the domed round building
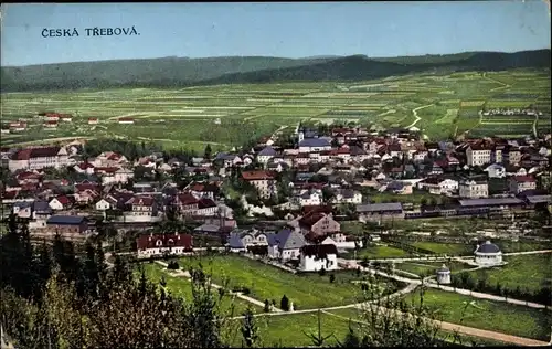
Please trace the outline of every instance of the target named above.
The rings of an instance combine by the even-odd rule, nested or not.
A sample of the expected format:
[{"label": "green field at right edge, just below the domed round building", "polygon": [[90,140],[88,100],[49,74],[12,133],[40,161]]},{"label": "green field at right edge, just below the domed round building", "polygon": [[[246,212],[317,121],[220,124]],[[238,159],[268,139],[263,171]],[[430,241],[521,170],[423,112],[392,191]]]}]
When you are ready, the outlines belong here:
[{"label": "green field at right edge, just below the domed round building", "polygon": [[517,255],[503,257],[507,265],[490,269],[470,272],[477,279],[485,278],[488,284],[500,283],[502,287],[539,290],[552,284],[552,254]]}]

